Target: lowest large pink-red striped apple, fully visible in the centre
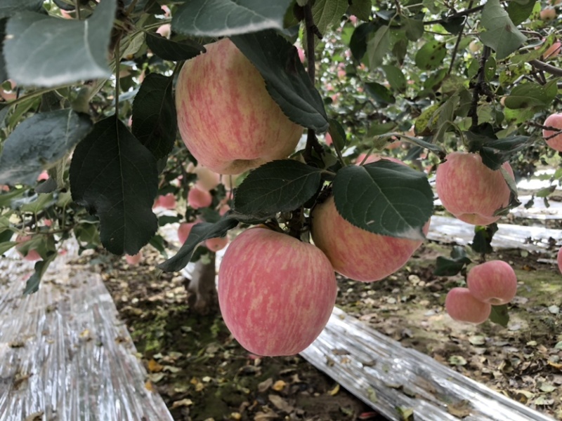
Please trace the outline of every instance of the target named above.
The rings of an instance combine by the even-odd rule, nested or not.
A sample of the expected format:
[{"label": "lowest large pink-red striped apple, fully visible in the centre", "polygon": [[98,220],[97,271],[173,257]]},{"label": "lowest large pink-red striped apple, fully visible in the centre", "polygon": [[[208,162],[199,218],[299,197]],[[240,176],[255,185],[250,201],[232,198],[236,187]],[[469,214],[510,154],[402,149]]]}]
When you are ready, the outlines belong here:
[{"label": "lowest large pink-red striped apple, fully visible in the centre", "polygon": [[294,355],[326,326],[336,276],[318,248],[254,227],[226,249],[218,271],[218,304],[240,345],[263,356]]}]

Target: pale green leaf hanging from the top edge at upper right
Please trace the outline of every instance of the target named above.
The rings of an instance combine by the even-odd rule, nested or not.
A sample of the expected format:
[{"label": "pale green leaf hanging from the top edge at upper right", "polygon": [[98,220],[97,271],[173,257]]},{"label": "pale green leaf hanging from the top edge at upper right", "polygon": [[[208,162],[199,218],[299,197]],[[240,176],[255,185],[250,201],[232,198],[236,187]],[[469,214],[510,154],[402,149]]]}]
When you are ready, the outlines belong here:
[{"label": "pale green leaf hanging from the top edge at upper right", "polygon": [[480,39],[485,46],[496,52],[497,60],[502,60],[521,46],[527,37],[511,22],[499,0],[488,0],[482,11],[482,26]]}]

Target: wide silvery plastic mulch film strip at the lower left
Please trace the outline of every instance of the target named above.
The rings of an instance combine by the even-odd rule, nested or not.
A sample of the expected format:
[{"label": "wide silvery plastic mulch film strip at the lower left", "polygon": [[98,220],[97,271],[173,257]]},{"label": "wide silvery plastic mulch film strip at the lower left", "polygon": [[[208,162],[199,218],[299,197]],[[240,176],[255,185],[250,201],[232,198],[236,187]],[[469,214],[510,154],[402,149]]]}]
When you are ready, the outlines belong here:
[{"label": "wide silvery plastic mulch film strip at the lower left", "polygon": [[[67,242],[69,243],[69,242]],[[150,389],[99,274],[58,256],[37,293],[33,264],[0,258],[0,420],[172,420]]]}]

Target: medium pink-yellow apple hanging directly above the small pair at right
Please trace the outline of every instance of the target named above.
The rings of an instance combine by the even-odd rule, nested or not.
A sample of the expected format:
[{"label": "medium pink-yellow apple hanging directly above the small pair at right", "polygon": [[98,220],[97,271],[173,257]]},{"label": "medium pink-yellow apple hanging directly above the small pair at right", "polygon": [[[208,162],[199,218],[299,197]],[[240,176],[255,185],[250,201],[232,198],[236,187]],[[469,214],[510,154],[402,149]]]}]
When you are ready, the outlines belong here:
[{"label": "medium pink-yellow apple hanging directly above the small pair at right", "polygon": [[[452,152],[436,172],[436,190],[445,209],[472,225],[489,225],[499,220],[497,209],[509,204],[509,187],[500,171],[484,165],[479,154]],[[511,178],[514,171],[503,163]]]}]

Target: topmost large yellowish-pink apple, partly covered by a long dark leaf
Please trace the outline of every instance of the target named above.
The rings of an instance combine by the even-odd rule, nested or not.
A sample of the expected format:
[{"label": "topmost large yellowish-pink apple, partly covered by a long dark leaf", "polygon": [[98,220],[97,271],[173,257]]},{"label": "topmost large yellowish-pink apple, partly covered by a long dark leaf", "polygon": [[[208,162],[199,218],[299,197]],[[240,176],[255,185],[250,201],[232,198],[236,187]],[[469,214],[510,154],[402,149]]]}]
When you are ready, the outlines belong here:
[{"label": "topmost large yellowish-pink apple, partly covered by a long dark leaf", "polygon": [[303,128],[283,114],[256,67],[230,39],[205,48],[176,84],[178,128],[191,154],[219,174],[289,156]]}]

